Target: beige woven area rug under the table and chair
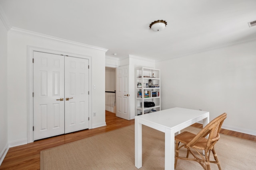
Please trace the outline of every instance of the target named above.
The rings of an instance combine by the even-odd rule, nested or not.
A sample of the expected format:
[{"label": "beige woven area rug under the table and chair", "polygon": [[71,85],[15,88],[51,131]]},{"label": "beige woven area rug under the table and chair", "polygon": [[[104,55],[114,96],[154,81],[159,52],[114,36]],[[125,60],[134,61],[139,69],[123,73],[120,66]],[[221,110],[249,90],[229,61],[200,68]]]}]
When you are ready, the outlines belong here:
[{"label": "beige woven area rug under the table and chair", "polygon": [[[200,129],[186,128],[197,133]],[[164,169],[164,133],[142,127],[142,168]],[[222,170],[256,170],[256,143],[221,135],[215,149]],[[180,154],[186,155],[180,151]],[[212,154],[211,154],[212,156]],[[212,156],[213,157],[213,156]],[[136,170],[134,166],[134,125],[80,141],[43,150],[41,170]],[[176,170],[201,170],[195,161],[178,160]],[[212,170],[218,170],[211,164]]]}]

